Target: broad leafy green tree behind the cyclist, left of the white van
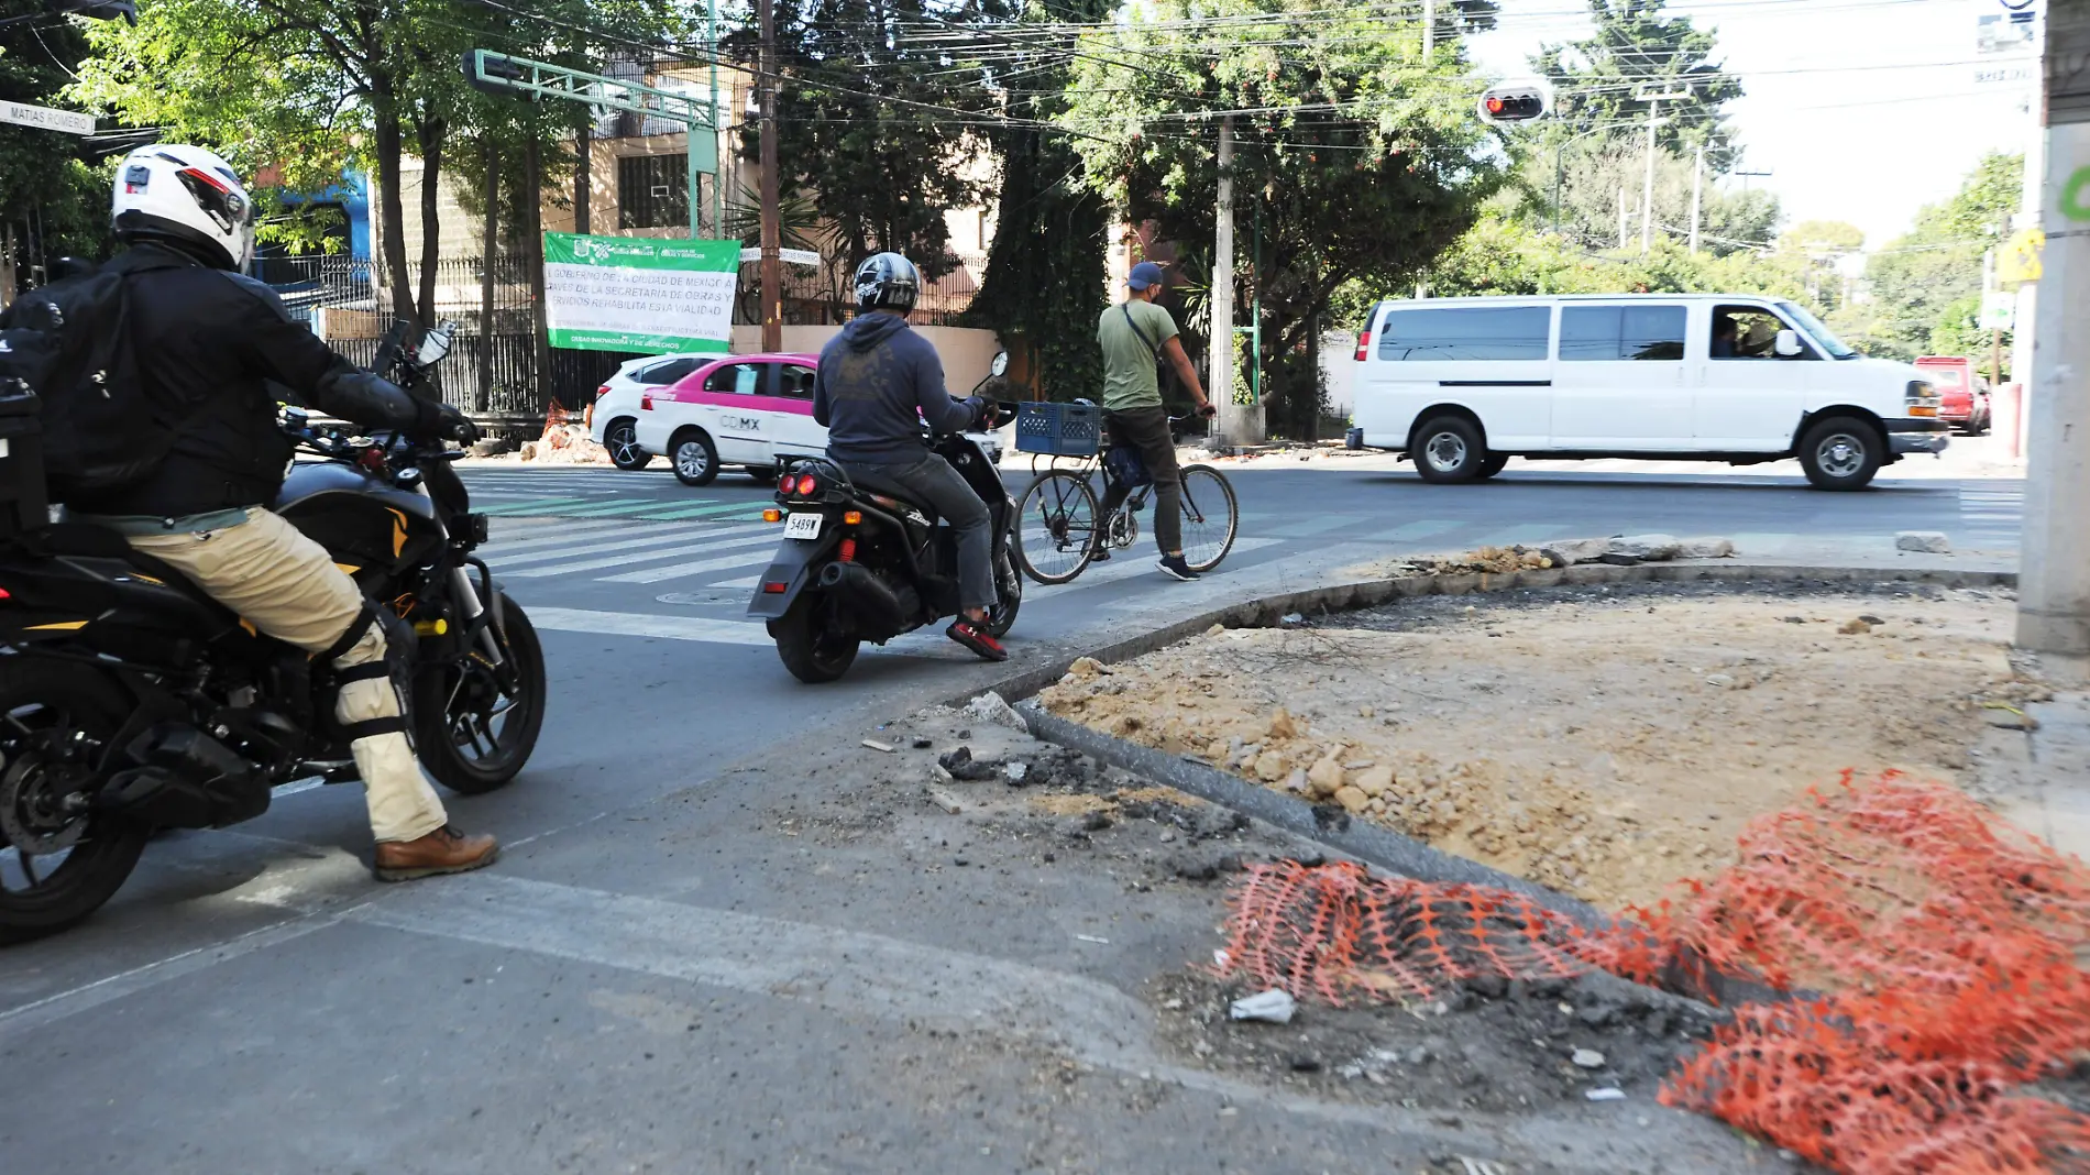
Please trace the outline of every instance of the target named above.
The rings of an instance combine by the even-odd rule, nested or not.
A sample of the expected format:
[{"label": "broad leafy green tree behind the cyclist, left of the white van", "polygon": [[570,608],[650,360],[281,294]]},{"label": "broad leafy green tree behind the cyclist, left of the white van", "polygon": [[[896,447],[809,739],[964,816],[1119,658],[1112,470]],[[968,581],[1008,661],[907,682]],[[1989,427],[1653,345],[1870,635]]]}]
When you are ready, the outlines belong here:
[{"label": "broad leafy green tree behind the cyclist, left of the white van", "polygon": [[[1336,291],[1413,278],[1505,180],[1471,98],[1459,100],[1473,86],[1457,52],[1425,63],[1415,21],[1377,8],[1156,0],[1081,52],[1060,123],[1078,136],[1089,186],[1162,240],[1214,238],[1210,113],[1254,111],[1235,117],[1237,238],[1250,245],[1260,213],[1267,376],[1310,355]],[[1273,427],[1313,424],[1317,387],[1271,389]]]}]

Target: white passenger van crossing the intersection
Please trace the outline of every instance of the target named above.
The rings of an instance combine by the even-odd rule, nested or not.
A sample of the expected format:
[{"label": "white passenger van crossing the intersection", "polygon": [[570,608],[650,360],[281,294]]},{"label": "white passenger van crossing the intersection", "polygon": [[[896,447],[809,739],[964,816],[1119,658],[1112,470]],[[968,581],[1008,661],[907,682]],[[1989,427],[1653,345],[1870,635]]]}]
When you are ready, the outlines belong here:
[{"label": "white passenger van crossing the intersection", "polygon": [[1352,447],[1480,481],[1509,458],[1799,458],[1860,489],[1940,454],[1937,391],[1866,360],[1804,307],[1749,295],[1381,301],[1356,339]]}]

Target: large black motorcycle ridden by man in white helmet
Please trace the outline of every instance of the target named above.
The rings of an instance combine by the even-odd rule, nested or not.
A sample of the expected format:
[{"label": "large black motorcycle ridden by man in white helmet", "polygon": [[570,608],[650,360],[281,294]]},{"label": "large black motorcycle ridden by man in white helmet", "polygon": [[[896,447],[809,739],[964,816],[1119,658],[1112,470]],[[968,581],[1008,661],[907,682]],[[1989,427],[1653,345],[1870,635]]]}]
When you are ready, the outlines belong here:
[{"label": "large black motorcycle ridden by man in white helmet", "polygon": [[[408,355],[395,330],[376,368],[424,387],[449,335]],[[543,650],[472,554],[487,519],[449,464],[464,454],[295,408],[282,424],[320,460],[291,470],[274,510],[376,604],[420,763],[464,794],[500,788],[543,725]],[[330,663],[259,636],[115,531],[0,539],[0,943],[98,909],[157,828],[224,828],[268,811],[276,784],[355,780],[332,698]]]}]

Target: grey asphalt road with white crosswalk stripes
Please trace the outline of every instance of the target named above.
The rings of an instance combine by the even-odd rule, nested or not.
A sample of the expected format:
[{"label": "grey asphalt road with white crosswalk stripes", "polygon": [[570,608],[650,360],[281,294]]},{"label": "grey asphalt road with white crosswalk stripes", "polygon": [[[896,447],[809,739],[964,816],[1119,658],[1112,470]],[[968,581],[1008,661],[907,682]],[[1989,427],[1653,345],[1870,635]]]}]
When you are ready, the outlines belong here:
[{"label": "grey asphalt road with white crosswalk stripes", "polygon": [[[930,1064],[963,1068],[984,1093],[915,1089],[895,1106],[880,1075],[901,1058],[882,1020],[861,1001],[794,999],[792,985],[819,985],[819,968],[777,964],[769,987],[746,978],[771,974],[759,966],[732,983],[698,966],[711,951],[754,958],[771,939],[857,928],[836,895],[878,905],[861,889],[876,884],[874,866],[830,878],[763,815],[777,799],[769,788],[817,780],[788,757],[748,774],[727,767],[817,746],[830,732],[853,746],[869,723],[961,694],[989,671],[918,633],[867,652],[834,688],[792,682],[761,625],[740,615],[773,531],[754,521],[767,491],[732,475],[686,489],[667,473],[481,466],[466,481],[497,516],[489,562],[543,629],[552,669],[531,767],[502,794],[451,805],[460,824],[508,845],[500,878],[372,886],[353,786],[286,788],[263,820],[165,836],[100,918],[0,953],[8,1162],[75,1173],[1026,1169],[993,1158],[991,1131],[980,1133],[986,1114],[1022,1106],[1022,1058],[961,1064],[930,1050]],[[1743,554],[1779,558],[1883,552],[1896,531],[1935,529],[1958,548],[2008,554],[2021,502],[2015,481],[1885,479],[1833,496],[1787,477],[1689,468],[1425,487],[1361,464],[1233,481],[1241,542],[1218,575],[1162,579],[1141,544],[1139,558],[1072,585],[1032,585],[1016,656],[1396,552],[1668,531],[1728,535]],[[905,909],[880,907],[874,928],[882,943],[957,949],[968,939],[953,928],[995,926],[1003,903],[1018,914],[1007,886],[991,874],[938,884]],[[1081,893],[1106,901],[1116,889]],[[752,914],[734,922],[734,912]],[[692,928],[690,918],[709,922]],[[633,939],[577,945],[577,926],[623,926]],[[984,930],[970,943],[999,949]],[[1114,983],[1137,983],[1137,970]],[[934,985],[909,999],[932,1006]],[[686,1035],[683,1020],[706,1029]],[[1066,1121],[1195,1142],[1198,1114],[1216,1108],[1177,1112],[1189,1110]],[[1250,1119],[1241,1129],[1262,1131],[1258,1146],[1306,1154],[1285,1142],[1296,1116]],[[1356,1123],[1315,1129],[1315,1148],[1331,1150],[1315,1150],[1313,1169],[1348,1169],[1329,1154],[1363,1160],[1384,1142]],[[861,1146],[807,1158],[807,1131]],[[777,1160],[780,1139],[790,1162]],[[1254,1152],[1170,1150],[1185,1165],[1231,1154],[1237,1167],[1298,1169]]]}]

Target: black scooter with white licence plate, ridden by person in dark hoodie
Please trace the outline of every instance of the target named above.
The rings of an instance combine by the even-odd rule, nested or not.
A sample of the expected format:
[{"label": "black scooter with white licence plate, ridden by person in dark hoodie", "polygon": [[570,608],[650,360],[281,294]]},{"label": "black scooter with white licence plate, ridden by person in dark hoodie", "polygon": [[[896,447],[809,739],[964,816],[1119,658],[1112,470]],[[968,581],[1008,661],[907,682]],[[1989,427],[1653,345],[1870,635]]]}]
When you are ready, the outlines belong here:
[{"label": "black scooter with white licence plate, ridden by person in dark hoodie", "polygon": [[[1014,418],[1014,404],[997,404],[982,424],[1001,429]],[[955,433],[928,441],[993,519],[1001,600],[986,619],[1001,638],[1024,602],[1024,579],[1009,556],[1016,502],[984,445]],[[957,535],[909,502],[905,487],[807,458],[784,470],[775,500],[765,519],[784,523],[784,546],[757,583],[748,615],[769,623],[777,656],[800,682],[834,682],[865,640],[884,644],[957,615]]]}]

